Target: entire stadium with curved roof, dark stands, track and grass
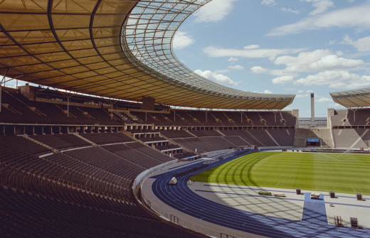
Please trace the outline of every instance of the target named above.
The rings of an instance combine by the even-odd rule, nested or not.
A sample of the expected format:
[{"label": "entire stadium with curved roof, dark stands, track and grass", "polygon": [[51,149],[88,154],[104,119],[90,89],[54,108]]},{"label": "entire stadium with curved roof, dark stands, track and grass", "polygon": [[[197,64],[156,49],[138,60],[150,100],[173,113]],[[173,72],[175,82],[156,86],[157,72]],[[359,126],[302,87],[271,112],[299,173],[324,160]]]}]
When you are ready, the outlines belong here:
[{"label": "entire stadium with curved roof, dark stands, track and grass", "polygon": [[196,75],[208,1],[0,2],[0,237],[370,236],[370,90],[304,127]]}]

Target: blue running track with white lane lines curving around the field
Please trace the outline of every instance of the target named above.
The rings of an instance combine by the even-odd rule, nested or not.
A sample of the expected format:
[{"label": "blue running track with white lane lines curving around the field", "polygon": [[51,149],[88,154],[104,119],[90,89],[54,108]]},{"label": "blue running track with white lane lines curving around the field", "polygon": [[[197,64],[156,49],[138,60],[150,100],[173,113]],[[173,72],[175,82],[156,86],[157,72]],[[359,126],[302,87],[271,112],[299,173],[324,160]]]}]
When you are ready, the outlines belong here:
[{"label": "blue running track with white lane lines curving around the field", "polygon": [[[251,150],[248,153],[250,152],[254,151]],[[181,176],[177,178],[178,183],[176,185],[169,185],[169,180],[171,180],[174,174],[181,171],[188,171],[190,168],[201,165],[203,161],[191,163],[189,166],[181,166],[181,168],[176,168],[173,171],[156,175],[152,177],[155,178],[152,184],[153,193],[162,202],[165,202],[166,205],[192,217],[223,227],[265,237],[370,237],[370,229],[351,229],[327,225],[327,222],[324,222],[327,219],[326,212],[322,208],[324,200],[321,202],[312,202],[317,203],[313,205],[306,205],[305,202],[303,220],[297,222],[296,220],[269,217],[221,205],[197,195],[188,187],[187,180],[192,175],[238,157],[231,156],[212,163],[199,171]]]}]

